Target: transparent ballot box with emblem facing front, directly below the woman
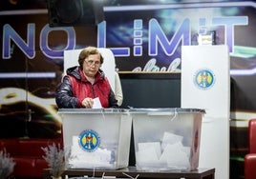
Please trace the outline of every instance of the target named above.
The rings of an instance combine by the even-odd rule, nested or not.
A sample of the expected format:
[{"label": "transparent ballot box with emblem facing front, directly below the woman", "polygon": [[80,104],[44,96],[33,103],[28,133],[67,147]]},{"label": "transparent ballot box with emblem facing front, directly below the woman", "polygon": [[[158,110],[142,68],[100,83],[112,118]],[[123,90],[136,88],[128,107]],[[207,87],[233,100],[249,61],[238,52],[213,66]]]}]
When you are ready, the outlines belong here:
[{"label": "transparent ballot box with emblem facing front, directly below the woman", "polygon": [[125,109],[59,109],[68,169],[128,167],[132,117]]}]

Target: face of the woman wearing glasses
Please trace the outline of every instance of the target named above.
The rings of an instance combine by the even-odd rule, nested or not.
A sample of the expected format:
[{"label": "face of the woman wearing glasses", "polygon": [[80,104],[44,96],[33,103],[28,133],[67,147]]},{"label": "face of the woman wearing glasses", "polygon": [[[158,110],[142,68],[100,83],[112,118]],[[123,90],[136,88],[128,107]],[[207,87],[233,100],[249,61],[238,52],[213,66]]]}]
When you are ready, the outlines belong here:
[{"label": "face of the woman wearing glasses", "polygon": [[83,71],[86,76],[95,77],[100,66],[99,54],[91,54],[83,62]]}]

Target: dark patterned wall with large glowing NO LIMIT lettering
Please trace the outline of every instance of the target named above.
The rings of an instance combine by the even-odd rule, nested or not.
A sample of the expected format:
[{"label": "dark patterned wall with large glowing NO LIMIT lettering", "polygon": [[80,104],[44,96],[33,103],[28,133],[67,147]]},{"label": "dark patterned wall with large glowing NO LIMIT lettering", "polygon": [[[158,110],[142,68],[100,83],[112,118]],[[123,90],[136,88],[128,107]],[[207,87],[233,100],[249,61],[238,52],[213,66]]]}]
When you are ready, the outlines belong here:
[{"label": "dark patterned wall with large glowing NO LIMIT lettering", "polygon": [[[146,5],[142,1],[120,1],[118,6],[112,4],[105,8],[106,21],[97,27],[53,29],[48,26],[45,1],[11,2],[0,2],[0,137],[59,135],[61,120],[56,113],[54,90],[62,78],[63,50],[86,46],[110,48],[120,72],[179,73],[181,45],[197,45],[199,33],[215,31],[215,44],[227,44],[231,57],[230,159],[234,166],[243,166],[247,147],[241,136],[245,136],[247,120],[255,116],[256,107],[252,83],[256,77],[254,1],[168,1],[164,6],[159,1]],[[172,82],[164,78],[162,84],[155,76],[159,75],[142,81],[129,75],[123,77],[126,98],[123,105],[175,107],[179,104],[176,101],[179,95],[173,95],[179,92],[179,82],[172,81],[177,85],[173,89]],[[149,85],[155,82],[159,88]],[[158,94],[164,90],[167,97],[160,99],[164,104],[151,103],[146,93],[133,91],[134,86],[149,91],[154,101],[158,101]],[[168,89],[173,92],[170,96]],[[131,90],[138,95],[131,95]],[[235,177],[243,178],[242,171]]]}]

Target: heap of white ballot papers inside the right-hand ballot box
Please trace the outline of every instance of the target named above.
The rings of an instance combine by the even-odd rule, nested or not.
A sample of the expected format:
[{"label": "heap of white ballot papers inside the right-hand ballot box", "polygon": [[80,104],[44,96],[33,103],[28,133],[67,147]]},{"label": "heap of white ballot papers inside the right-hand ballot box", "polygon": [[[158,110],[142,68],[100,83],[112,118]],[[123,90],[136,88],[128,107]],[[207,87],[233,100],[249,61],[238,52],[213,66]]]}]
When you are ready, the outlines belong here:
[{"label": "heap of white ballot papers inside the right-hand ballot box", "polygon": [[190,147],[182,145],[183,137],[164,132],[160,142],[139,143],[137,168],[142,170],[190,169]]}]

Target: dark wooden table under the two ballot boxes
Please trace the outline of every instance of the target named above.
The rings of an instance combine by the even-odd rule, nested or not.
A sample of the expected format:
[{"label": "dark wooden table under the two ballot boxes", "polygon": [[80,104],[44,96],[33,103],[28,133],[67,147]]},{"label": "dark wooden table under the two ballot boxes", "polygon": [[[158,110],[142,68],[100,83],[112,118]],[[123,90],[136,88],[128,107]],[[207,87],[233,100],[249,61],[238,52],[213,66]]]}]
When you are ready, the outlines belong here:
[{"label": "dark wooden table under the two ballot boxes", "polygon": [[[140,178],[185,178],[185,179],[214,179],[215,169],[196,169],[196,170],[177,170],[177,171],[140,171],[136,167],[128,167],[125,169],[106,170],[106,169],[67,169],[63,176],[78,177],[102,177],[102,176],[116,176],[117,178],[129,178],[129,176],[138,179]],[[44,178],[52,179],[50,169],[44,169]],[[65,177],[63,177],[65,178]]]}]

